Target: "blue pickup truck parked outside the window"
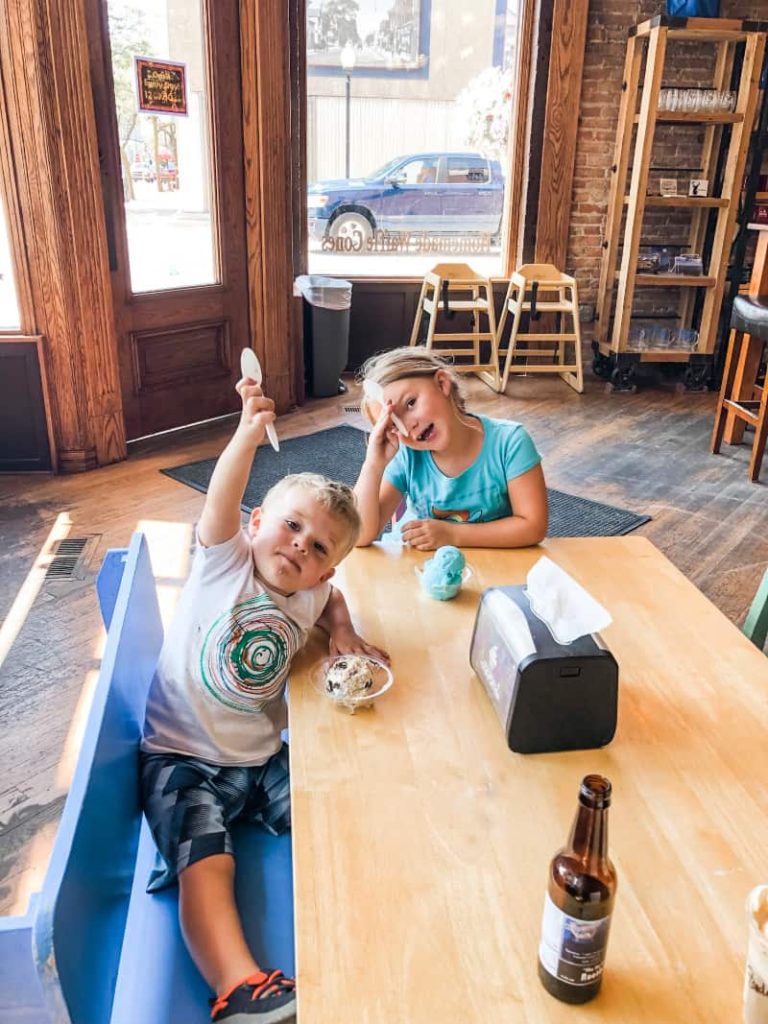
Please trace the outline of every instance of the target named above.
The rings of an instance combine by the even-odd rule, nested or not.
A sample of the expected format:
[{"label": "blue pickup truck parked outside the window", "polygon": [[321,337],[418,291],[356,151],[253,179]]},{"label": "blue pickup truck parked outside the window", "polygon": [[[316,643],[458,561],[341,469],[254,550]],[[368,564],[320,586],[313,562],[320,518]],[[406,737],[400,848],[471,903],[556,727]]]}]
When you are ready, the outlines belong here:
[{"label": "blue pickup truck parked outside the window", "polygon": [[316,181],[307,205],[310,239],[350,238],[355,249],[376,230],[496,238],[504,178],[478,153],[411,154],[365,178]]}]

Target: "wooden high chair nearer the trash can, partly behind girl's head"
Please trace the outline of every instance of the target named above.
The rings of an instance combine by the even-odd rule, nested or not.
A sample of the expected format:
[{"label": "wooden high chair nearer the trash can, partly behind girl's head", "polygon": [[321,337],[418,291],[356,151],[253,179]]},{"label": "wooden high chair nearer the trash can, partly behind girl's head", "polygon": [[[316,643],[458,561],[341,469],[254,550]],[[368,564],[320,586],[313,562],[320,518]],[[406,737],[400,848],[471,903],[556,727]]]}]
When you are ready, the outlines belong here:
[{"label": "wooden high chair nearer the trash can, partly behind girl's head", "polygon": [[[457,298],[457,293],[464,297]],[[440,355],[471,356],[472,362],[457,362],[454,370],[477,374],[495,391],[501,390],[494,290],[490,280],[475,273],[466,263],[438,263],[424,274],[414,329],[411,332],[412,345],[417,345],[419,342],[419,331],[425,312],[428,317],[426,347],[435,347]],[[449,331],[436,334],[438,312],[445,313],[447,317],[453,317],[457,312],[472,313],[472,333]],[[480,330],[480,316],[487,318],[487,331]],[[454,347],[443,348],[443,342],[453,343]],[[456,347],[456,342],[468,344]],[[481,358],[480,342],[487,342],[490,345],[488,361],[483,361]],[[437,348],[435,343],[440,347]]]}]

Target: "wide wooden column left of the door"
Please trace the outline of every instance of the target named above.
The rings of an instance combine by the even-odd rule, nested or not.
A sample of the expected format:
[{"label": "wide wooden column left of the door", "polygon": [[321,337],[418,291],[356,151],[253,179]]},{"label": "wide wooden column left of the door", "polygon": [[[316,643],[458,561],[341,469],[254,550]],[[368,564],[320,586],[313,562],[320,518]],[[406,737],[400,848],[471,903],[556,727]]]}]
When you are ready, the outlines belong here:
[{"label": "wide wooden column left of the door", "polygon": [[91,469],[126,444],[83,5],[0,0],[0,67],[24,326],[47,339],[59,468]]}]

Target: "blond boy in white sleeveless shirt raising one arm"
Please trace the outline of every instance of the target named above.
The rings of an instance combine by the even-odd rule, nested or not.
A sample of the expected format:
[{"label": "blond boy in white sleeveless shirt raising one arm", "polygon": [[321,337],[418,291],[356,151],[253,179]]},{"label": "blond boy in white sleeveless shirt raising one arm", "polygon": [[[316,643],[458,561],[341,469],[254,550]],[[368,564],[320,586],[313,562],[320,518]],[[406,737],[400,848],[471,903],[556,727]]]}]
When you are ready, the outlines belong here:
[{"label": "blond boy in white sleeveless shirt raising one arm", "polygon": [[[240,423],[211,477],[198,551],[158,663],[141,743],[144,811],[165,861],[152,890],[179,883],[184,939],[216,992],[212,1020],[294,1021],[295,983],[256,963],[234,902],[230,825],[290,825],[285,684],[316,624],[332,653],[382,651],[354,631],[330,584],[353,547],[349,487],[286,477],[241,525],[241,502],[273,403],[242,380]],[[386,656],[386,655],[384,655]]]}]

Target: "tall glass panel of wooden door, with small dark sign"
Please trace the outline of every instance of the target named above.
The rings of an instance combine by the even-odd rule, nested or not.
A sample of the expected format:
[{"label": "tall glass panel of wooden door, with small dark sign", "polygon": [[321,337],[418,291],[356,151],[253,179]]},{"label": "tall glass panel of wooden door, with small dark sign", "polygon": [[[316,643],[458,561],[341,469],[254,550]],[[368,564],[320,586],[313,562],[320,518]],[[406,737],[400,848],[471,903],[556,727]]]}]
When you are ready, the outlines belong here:
[{"label": "tall glass panel of wooden door, with small dark sign", "polygon": [[[109,0],[108,6],[131,290],[215,284],[201,0]],[[143,70],[137,57],[148,58]],[[139,74],[144,105],[156,103],[161,113],[139,109]]]}]

